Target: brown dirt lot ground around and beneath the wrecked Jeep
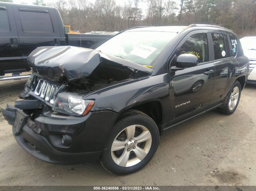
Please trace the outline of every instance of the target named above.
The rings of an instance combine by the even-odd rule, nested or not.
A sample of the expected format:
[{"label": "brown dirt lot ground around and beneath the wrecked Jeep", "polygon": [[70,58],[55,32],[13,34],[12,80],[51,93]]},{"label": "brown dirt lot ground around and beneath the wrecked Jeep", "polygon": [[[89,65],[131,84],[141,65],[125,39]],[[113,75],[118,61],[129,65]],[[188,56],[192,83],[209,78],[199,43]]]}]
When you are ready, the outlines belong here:
[{"label": "brown dirt lot ground around and beneath the wrecked Jeep", "polygon": [[[0,82],[0,107],[14,104],[25,82]],[[231,116],[213,110],[165,132],[152,161],[127,176],[99,162],[42,162],[16,143],[0,114],[0,185],[256,185],[255,95],[256,86],[247,85]]]}]

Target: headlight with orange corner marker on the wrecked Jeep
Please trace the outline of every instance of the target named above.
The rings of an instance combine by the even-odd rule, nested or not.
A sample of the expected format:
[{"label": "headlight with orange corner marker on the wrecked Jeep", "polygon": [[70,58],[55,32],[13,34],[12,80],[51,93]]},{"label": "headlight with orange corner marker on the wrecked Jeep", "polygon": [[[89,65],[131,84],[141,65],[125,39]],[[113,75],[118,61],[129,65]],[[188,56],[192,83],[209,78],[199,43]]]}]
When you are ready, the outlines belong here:
[{"label": "headlight with orange corner marker on the wrecked Jeep", "polygon": [[52,110],[68,115],[84,116],[94,103],[94,100],[83,100],[82,96],[61,92],[57,95]]}]

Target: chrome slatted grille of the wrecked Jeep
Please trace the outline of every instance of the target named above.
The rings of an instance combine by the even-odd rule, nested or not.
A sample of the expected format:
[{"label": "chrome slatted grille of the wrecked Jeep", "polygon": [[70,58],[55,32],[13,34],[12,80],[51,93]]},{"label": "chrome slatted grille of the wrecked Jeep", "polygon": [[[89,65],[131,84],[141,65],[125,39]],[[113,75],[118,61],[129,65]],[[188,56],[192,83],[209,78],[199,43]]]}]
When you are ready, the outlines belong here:
[{"label": "chrome slatted grille of the wrecked Jeep", "polygon": [[39,79],[38,83],[36,84],[34,94],[53,104],[55,100],[55,92],[58,90],[58,88],[58,86],[48,81]]}]

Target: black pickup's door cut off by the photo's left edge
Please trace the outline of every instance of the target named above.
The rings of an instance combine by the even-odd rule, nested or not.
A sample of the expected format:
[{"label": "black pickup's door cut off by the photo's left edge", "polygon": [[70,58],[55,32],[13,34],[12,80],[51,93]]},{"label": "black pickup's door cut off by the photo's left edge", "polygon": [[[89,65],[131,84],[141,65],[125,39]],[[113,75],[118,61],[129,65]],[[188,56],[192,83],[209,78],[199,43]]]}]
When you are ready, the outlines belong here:
[{"label": "black pickup's door cut off by the photo's left edge", "polygon": [[19,38],[12,8],[0,2],[0,75],[22,70]]}]

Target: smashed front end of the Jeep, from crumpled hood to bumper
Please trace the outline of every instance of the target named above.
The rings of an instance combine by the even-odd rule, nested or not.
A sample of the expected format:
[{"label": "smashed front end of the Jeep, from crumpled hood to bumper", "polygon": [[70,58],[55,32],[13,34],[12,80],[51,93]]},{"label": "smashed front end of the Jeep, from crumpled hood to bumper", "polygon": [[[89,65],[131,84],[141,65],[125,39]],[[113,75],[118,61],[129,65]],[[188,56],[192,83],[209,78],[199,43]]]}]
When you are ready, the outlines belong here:
[{"label": "smashed front end of the Jeep, from crumpled hood to bumper", "polygon": [[152,72],[116,56],[71,46],[39,47],[28,63],[33,73],[24,91],[15,106],[7,105],[2,113],[22,148],[57,164],[97,160],[119,116],[104,108],[90,112],[97,97],[87,100],[87,95]]}]

